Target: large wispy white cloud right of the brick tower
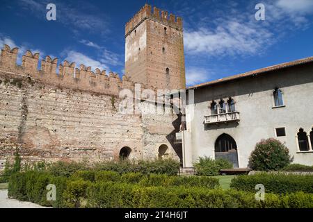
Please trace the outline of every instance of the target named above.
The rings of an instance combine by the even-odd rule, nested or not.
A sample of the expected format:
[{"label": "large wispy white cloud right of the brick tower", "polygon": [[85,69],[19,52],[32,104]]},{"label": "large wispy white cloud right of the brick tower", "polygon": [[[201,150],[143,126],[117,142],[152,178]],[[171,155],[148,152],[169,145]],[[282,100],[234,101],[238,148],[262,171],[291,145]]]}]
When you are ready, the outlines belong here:
[{"label": "large wispy white cloud right of the brick tower", "polygon": [[186,31],[184,43],[187,53],[207,53],[208,56],[256,55],[271,44],[273,34],[253,23],[224,21],[216,28],[202,27]]}]

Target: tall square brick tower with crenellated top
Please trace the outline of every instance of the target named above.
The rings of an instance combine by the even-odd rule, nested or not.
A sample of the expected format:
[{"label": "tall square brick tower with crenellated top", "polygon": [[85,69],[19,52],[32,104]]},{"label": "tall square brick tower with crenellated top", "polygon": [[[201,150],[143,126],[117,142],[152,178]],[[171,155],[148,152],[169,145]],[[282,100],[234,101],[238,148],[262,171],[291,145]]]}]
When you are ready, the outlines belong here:
[{"label": "tall square brick tower with crenellated top", "polygon": [[182,19],[145,5],[125,27],[125,74],[157,89],[184,89]]}]

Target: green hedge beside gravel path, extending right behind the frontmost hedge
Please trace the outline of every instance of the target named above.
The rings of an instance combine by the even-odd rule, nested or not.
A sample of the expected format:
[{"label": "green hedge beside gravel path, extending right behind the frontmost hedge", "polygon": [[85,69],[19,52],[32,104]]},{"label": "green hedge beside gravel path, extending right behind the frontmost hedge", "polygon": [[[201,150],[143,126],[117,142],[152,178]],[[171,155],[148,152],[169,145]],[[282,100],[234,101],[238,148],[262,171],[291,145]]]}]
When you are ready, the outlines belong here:
[{"label": "green hedge beside gravel path, extending right behind the frontmost hedge", "polygon": [[[205,187],[214,189],[219,186],[218,179],[207,177],[184,177],[112,171],[77,171],[70,178],[54,176],[45,171],[26,171],[15,173],[10,178],[8,196],[18,200],[31,201],[44,206],[81,207],[86,205],[87,188],[96,182],[114,182],[138,187]],[[47,185],[56,185],[56,201],[47,201]]]}]

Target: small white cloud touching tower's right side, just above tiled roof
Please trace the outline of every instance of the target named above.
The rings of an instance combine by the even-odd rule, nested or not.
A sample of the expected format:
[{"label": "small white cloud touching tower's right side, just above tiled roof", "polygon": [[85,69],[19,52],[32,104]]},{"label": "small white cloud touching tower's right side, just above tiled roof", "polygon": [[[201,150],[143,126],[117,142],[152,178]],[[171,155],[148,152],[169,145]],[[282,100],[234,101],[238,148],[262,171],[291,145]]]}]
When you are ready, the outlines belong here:
[{"label": "small white cloud touching tower's right side, just above tiled roof", "polygon": [[203,83],[211,78],[211,71],[198,67],[187,67],[186,68],[186,85],[196,85]]}]

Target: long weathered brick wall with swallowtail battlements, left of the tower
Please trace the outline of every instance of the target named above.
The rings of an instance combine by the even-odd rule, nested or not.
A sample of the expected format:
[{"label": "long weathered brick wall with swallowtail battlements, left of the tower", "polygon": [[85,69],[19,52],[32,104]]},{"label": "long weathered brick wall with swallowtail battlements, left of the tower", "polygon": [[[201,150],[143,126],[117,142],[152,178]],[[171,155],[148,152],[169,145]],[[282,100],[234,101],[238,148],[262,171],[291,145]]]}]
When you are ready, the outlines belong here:
[{"label": "long weathered brick wall with swallowtail battlements, left of the tower", "polygon": [[[19,66],[17,53],[7,45],[1,50],[0,170],[16,148],[24,162],[117,160],[125,146],[131,148],[129,158],[151,159],[163,144],[168,146],[166,156],[181,155],[175,138],[168,136],[177,131],[173,123],[178,118],[168,105],[163,114],[118,111],[120,90],[135,89],[127,76],[121,80],[118,74],[93,72],[85,65],[58,64],[49,56],[38,69],[40,55],[31,51]],[[141,89],[155,91],[150,85],[141,84]]]}]

